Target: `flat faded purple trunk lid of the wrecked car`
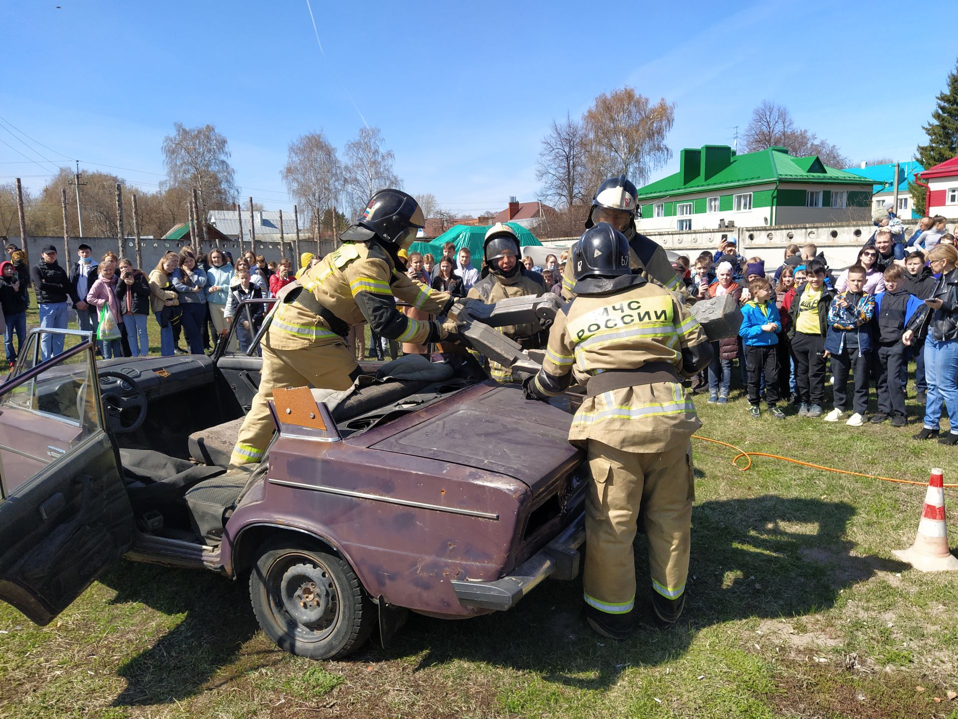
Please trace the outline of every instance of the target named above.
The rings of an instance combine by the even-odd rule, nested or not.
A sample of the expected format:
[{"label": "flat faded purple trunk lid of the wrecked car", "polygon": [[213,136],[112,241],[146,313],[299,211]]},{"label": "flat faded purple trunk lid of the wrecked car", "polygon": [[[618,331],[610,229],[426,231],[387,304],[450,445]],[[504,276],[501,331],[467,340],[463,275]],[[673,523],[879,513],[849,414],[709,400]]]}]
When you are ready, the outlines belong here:
[{"label": "flat faded purple trunk lid of the wrecked car", "polygon": [[503,385],[372,447],[510,475],[536,492],[582,461],[583,452],[569,444],[571,423],[568,412]]}]

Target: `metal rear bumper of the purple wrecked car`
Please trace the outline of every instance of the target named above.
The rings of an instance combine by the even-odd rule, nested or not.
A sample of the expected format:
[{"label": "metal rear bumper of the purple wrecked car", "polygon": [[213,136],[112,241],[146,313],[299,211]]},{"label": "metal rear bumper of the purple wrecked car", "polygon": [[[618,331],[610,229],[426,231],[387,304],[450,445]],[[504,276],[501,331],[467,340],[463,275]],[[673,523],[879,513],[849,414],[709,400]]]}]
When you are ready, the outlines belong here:
[{"label": "metal rear bumper of the purple wrecked car", "polygon": [[512,574],[494,582],[452,581],[459,601],[467,607],[507,610],[546,577],[572,580],[579,575],[580,547],[585,543],[585,515],[581,514]]}]

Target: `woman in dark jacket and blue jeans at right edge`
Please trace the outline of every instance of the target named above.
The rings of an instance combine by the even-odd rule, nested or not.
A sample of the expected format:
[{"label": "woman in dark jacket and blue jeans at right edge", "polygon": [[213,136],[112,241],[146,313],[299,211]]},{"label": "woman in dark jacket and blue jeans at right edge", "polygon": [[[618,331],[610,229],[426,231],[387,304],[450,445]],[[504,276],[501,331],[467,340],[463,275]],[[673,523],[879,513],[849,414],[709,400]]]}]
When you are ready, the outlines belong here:
[{"label": "woman in dark jacket and blue jeans at right edge", "polygon": [[950,430],[939,438],[943,445],[958,444],[958,249],[950,244],[936,244],[928,251],[931,271],[940,275],[931,296],[924,300],[924,312],[916,312],[909,320],[901,341],[910,345],[926,331],[924,341],[925,393],[922,431],[914,435],[924,440],[940,433],[942,401],[948,411]]}]

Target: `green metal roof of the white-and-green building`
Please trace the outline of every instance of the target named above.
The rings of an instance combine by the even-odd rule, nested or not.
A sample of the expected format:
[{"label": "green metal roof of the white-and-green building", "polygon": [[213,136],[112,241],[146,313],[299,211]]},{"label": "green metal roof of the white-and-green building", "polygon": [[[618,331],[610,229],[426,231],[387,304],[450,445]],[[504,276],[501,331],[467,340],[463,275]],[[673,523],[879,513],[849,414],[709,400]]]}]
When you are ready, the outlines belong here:
[{"label": "green metal roof of the white-and-green building", "polygon": [[785,148],[735,154],[724,145],[706,145],[701,150],[683,150],[679,171],[640,188],[639,197],[688,195],[763,182],[871,184],[860,175],[827,167],[817,156],[792,157]]}]

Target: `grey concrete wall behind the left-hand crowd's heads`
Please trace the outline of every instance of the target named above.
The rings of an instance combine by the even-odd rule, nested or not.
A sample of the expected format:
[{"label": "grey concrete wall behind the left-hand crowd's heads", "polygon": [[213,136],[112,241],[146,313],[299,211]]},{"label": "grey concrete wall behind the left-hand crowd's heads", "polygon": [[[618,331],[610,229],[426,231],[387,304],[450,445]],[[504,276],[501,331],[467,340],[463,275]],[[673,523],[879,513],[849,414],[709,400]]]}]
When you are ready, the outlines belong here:
[{"label": "grey concrete wall behind the left-hand crowd's heads", "polygon": [[[11,238],[11,242],[14,244],[20,244],[19,238]],[[70,256],[66,257],[63,251],[63,237],[29,237],[27,239],[27,252],[30,254],[31,264],[36,264],[40,261],[40,250],[43,249],[48,244],[52,244],[57,247],[58,261],[61,267],[68,267],[77,261],[77,247],[80,244],[89,244],[93,253],[93,257],[98,262],[100,258],[106,252],[114,252],[121,257],[128,257],[129,259],[136,262],[136,240],[133,238],[126,238],[123,241],[123,251],[119,251],[120,241],[115,237],[84,237],[82,240],[76,237],[70,238]],[[143,256],[143,267],[141,269],[149,272],[153,267],[156,267],[156,264],[160,261],[160,258],[163,257],[167,252],[179,252],[181,247],[189,247],[191,244],[189,242],[177,241],[177,240],[162,240],[162,239],[141,239],[140,240],[140,251]],[[243,249],[249,249],[249,242],[243,243]],[[312,252],[316,254],[316,243],[312,240],[300,240],[299,242],[300,252]],[[202,251],[209,252],[211,249],[215,248],[215,243],[203,243]],[[220,248],[223,251],[230,252],[233,255],[233,259],[239,257],[241,254],[239,250],[239,241],[234,242],[224,242],[221,244]],[[331,241],[323,240],[319,243],[319,252],[321,255],[325,255],[328,252],[331,252],[333,249]],[[293,243],[289,240],[285,240],[283,247],[280,247],[279,239],[274,241],[262,242],[257,238],[256,242],[256,251],[258,254],[261,254],[266,258],[266,262],[269,261],[278,261],[281,257],[288,257],[293,261],[294,267],[299,267],[299,258],[295,257],[295,251]],[[6,259],[6,255],[4,255]]]}]

